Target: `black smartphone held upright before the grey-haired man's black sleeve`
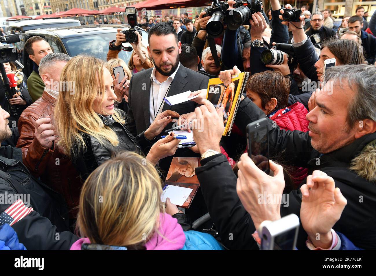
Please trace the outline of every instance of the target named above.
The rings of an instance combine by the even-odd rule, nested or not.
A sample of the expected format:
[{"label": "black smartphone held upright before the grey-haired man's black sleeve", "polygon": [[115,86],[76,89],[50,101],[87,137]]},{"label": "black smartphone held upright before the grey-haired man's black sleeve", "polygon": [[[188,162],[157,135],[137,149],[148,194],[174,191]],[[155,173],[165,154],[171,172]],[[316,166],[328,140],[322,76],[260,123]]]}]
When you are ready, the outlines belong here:
[{"label": "black smartphone held upright before the grey-haired man's black sleeve", "polygon": [[269,174],[268,118],[262,118],[247,125],[248,156],[256,166]]}]

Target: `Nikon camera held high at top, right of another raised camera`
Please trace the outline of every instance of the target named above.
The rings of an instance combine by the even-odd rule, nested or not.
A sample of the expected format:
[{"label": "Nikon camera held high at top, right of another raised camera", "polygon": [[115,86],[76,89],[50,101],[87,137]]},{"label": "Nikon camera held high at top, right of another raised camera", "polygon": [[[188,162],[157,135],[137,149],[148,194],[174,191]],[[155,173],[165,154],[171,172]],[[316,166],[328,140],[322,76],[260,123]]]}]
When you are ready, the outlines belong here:
[{"label": "Nikon camera held high at top, right of another raised camera", "polygon": [[253,13],[262,12],[262,1],[239,0],[233,5],[234,9],[227,10],[226,23],[229,30],[236,30],[242,24],[249,25]]}]

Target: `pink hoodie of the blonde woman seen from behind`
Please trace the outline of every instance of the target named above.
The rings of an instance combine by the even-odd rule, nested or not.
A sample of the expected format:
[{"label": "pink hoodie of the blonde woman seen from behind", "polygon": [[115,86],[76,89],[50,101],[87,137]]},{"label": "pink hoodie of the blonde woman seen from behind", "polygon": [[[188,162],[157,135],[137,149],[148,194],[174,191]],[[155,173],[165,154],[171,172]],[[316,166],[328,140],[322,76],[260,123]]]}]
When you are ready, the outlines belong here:
[{"label": "pink hoodie of the blonde woman seen from behind", "polygon": [[[167,213],[159,215],[159,233],[156,233],[149,242],[146,243],[146,250],[180,250],[185,244],[185,234],[177,223],[177,219]],[[90,243],[88,238],[81,238],[71,246],[70,250],[81,250],[83,243]]]}]

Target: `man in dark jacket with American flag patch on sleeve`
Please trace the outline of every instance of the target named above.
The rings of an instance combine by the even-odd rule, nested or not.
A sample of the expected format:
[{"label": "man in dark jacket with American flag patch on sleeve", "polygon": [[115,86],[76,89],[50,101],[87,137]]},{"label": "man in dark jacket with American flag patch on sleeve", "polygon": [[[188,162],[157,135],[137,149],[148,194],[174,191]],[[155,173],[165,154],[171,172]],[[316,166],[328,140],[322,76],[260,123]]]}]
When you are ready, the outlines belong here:
[{"label": "man in dark jacket with American flag patch on sleeve", "polygon": [[[0,140],[8,139],[9,113],[0,108]],[[68,229],[64,199],[34,178],[21,148],[0,147],[0,225],[8,223],[27,249],[70,249],[78,237]]]}]

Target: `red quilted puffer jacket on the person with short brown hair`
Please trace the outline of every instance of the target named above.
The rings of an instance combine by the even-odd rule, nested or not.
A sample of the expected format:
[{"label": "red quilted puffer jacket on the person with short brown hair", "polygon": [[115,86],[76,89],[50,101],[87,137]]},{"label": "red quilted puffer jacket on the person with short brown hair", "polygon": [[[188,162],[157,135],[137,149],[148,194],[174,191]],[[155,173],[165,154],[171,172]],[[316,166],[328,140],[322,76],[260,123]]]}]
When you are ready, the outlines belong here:
[{"label": "red quilted puffer jacket on the person with short brown hair", "polygon": [[[278,116],[278,112],[271,117],[271,120],[275,121],[276,124],[285,130],[300,130],[308,131],[309,121],[306,120],[306,115],[308,113],[307,109],[300,102],[290,105],[291,110]],[[292,178],[296,185],[299,185],[303,179],[307,177],[307,168],[296,168],[297,171],[293,173]]]}]

